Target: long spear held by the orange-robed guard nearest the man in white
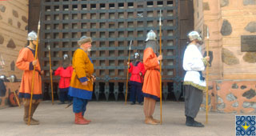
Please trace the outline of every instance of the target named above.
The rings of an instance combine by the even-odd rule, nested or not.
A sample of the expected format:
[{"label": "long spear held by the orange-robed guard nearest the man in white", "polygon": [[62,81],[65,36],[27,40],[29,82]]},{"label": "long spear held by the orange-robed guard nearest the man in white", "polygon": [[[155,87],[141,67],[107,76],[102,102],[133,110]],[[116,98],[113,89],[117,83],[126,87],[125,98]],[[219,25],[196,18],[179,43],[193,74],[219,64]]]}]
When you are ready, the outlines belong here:
[{"label": "long spear held by the orange-robed guard nearest the man in white", "polygon": [[[160,55],[162,54],[162,22],[161,22],[161,10],[159,18],[159,46],[160,46]],[[162,124],[162,60],[160,60],[160,124]]]}]

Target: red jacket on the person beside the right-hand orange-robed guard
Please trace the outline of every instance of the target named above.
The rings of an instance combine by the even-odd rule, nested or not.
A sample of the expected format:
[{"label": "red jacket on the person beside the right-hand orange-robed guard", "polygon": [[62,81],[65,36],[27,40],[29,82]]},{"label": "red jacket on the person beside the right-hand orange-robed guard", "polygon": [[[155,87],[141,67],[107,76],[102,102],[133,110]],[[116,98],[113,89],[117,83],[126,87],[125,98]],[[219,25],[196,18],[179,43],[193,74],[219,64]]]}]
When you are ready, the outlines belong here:
[{"label": "red jacket on the person beside the right-hand orange-robed guard", "polygon": [[[132,62],[130,62],[130,69],[129,69],[129,73],[131,74],[130,81],[142,83],[143,75],[146,73],[146,70],[144,69],[144,65],[142,62],[136,62],[136,63],[138,63],[137,66],[135,66],[136,64],[133,64]],[[142,76],[139,75],[139,73],[142,73]]]}]

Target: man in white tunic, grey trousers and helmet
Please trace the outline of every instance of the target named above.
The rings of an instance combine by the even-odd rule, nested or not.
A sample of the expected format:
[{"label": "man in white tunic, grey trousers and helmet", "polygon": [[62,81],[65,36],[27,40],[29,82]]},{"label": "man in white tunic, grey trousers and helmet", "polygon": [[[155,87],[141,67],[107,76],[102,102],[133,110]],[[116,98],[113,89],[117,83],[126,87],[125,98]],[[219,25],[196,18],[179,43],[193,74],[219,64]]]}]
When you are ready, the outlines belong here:
[{"label": "man in white tunic, grey trousers and helmet", "polygon": [[206,81],[202,77],[202,71],[210,58],[202,58],[198,46],[202,44],[202,38],[197,31],[188,34],[190,44],[186,46],[183,58],[183,69],[186,70],[184,78],[185,86],[185,115],[186,126],[204,127],[201,122],[194,121],[202,103],[202,93],[206,89]]}]

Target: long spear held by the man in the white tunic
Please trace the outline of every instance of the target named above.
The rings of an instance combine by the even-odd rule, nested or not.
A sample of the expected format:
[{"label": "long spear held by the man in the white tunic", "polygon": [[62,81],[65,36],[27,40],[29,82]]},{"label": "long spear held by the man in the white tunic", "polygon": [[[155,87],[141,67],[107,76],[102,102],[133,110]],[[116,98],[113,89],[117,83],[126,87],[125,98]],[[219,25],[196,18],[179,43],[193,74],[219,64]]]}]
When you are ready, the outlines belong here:
[{"label": "long spear held by the man in the white tunic", "polygon": [[[207,42],[206,42],[206,56],[209,56],[209,29],[207,26]],[[208,123],[208,80],[209,80],[209,65],[206,65],[206,124]]]}]

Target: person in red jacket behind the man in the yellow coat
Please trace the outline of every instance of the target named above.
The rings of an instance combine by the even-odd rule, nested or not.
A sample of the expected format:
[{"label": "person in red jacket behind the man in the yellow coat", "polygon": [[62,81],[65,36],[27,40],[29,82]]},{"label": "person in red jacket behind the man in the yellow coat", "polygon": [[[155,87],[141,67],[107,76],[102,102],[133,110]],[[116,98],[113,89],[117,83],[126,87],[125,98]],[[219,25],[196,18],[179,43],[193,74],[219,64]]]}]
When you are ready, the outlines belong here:
[{"label": "person in red jacket behind the man in the yellow coat", "polygon": [[63,65],[58,67],[57,70],[51,71],[53,75],[60,76],[61,79],[58,82],[59,88],[59,104],[65,104],[65,101],[72,101],[72,98],[68,95],[68,91],[70,88],[70,79],[72,76],[73,68],[70,63],[70,59],[67,54],[63,55]]}]

